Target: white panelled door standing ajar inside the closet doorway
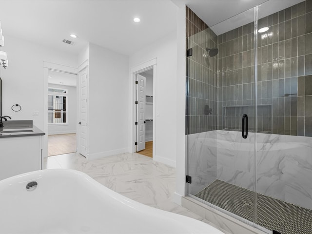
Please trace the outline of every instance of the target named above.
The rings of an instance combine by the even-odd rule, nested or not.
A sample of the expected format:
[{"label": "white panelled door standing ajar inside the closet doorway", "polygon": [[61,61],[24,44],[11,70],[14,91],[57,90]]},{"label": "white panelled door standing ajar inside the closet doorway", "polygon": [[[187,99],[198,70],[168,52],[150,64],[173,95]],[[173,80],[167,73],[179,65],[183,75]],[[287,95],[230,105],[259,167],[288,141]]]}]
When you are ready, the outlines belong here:
[{"label": "white panelled door standing ajar inside the closet doorway", "polygon": [[137,151],[145,149],[145,87],[146,78],[137,75]]}]

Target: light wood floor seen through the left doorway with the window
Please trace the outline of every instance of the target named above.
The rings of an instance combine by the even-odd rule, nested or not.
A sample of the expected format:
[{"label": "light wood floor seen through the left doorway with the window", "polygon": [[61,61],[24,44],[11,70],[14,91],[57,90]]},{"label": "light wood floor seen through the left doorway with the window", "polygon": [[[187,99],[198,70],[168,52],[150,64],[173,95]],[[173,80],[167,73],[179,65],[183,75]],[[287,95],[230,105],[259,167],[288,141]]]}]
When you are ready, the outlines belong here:
[{"label": "light wood floor seen through the left doorway with the window", "polygon": [[48,156],[76,152],[76,133],[48,136]]}]

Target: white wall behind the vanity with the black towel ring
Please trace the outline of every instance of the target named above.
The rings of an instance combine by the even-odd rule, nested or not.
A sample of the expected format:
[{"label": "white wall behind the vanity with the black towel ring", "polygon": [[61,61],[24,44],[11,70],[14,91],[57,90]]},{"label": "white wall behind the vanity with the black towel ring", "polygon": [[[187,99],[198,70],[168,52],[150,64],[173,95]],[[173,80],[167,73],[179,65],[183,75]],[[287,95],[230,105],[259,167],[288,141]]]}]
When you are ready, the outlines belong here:
[{"label": "white wall behind the vanity with the black towel ring", "polygon": [[[77,55],[64,53],[54,48],[41,46],[5,35],[9,67],[0,68],[2,78],[2,114],[13,119],[32,119],[34,125],[43,129],[44,72],[43,61],[77,67]],[[11,110],[20,104],[20,112]],[[33,116],[38,111],[39,116]]]}]

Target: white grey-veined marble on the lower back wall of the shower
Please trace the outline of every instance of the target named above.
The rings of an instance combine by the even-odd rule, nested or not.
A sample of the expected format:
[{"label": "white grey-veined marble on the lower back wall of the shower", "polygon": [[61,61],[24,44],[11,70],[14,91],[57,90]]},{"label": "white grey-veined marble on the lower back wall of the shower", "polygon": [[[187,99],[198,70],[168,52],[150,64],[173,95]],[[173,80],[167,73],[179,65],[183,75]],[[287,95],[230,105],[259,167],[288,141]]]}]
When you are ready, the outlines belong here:
[{"label": "white grey-veined marble on the lower back wall of the shower", "polygon": [[[254,190],[254,133],[217,130],[217,178]],[[256,191],[312,209],[312,138],[256,133]]]}]

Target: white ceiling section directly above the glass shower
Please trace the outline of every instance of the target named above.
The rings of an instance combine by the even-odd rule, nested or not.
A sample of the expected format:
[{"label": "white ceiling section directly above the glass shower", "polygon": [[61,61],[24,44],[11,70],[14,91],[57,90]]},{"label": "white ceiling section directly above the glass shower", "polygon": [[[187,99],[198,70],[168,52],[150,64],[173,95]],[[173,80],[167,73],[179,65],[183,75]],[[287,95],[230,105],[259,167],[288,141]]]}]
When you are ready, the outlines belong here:
[{"label": "white ceiling section directly above the glass shower", "polygon": [[254,21],[254,9],[258,7],[258,19],[283,10],[303,0],[172,0],[177,6],[191,8],[216,35]]}]

